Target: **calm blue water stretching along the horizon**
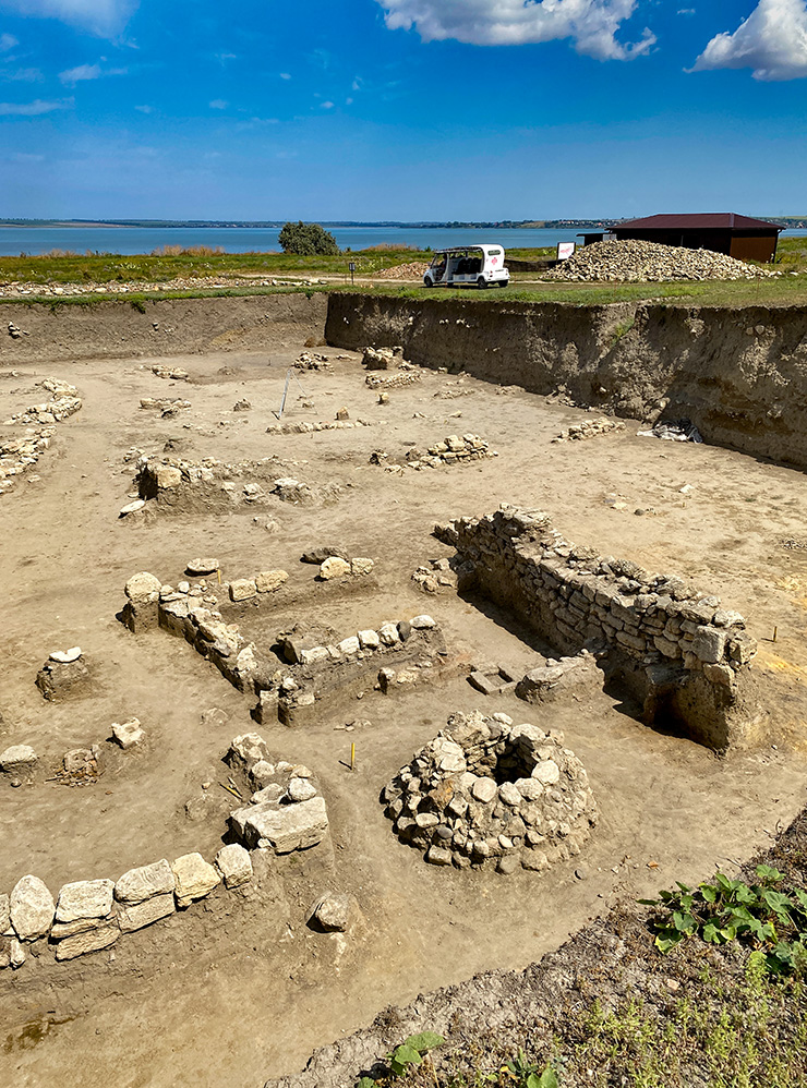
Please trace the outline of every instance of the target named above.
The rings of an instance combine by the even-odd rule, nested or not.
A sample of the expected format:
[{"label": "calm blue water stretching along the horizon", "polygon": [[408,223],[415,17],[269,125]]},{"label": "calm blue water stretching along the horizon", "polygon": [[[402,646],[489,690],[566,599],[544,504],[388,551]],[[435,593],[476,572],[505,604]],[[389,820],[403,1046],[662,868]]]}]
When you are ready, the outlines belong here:
[{"label": "calm blue water stretching along the horizon", "polygon": [[[578,229],[449,227],[330,227],[342,250],[397,243],[417,249],[441,249],[496,242],[505,250],[537,249],[558,242],[582,242]],[[0,227],[0,255],[49,253],[152,253],[162,245],[221,246],[227,253],[279,251],[278,229],[272,227]],[[807,230],[785,230],[782,238],[807,235]]]}]

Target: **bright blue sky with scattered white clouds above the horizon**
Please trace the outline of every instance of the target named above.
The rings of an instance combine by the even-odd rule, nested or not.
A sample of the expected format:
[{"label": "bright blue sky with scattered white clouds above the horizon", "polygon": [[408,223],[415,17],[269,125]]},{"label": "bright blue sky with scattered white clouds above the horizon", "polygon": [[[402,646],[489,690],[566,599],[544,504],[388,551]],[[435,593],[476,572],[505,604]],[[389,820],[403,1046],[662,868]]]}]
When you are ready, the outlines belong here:
[{"label": "bright blue sky with scattered white clouds above the horizon", "polygon": [[807,215],[807,0],[0,0],[0,216]]}]

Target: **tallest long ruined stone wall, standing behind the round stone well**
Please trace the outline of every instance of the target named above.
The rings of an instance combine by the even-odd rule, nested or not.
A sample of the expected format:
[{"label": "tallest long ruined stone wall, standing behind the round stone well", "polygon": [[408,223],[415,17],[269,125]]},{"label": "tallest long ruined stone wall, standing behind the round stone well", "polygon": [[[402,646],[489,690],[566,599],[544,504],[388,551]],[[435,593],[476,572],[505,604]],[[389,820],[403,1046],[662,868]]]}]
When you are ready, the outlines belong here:
[{"label": "tallest long ruined stone wall, standing behind the round stone well", "polygon": [[754,739],[749,669],[757,644],[743,616],[719,597],[576,546],[545,513],[506,504],[438,525],[435,535],[472,565],[466,585],[513,608],[551,645],[603,651],[603,667],[642,699],[647,722],[669,715],[718,750]]}]

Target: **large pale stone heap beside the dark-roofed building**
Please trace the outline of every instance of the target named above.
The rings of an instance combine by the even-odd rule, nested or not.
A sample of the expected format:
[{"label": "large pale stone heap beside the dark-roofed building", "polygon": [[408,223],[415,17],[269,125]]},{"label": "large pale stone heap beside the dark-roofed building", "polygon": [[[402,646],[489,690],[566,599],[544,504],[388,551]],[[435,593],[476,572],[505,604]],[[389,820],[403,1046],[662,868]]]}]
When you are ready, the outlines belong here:
[{"label": "large pale stone heap beside the dark-roofed building", "polygon": [[711,250],[687,250],[659,242],[594,242],[546,273],[547,279],[661,282],[671,279],[756,279],[769,271]]}]

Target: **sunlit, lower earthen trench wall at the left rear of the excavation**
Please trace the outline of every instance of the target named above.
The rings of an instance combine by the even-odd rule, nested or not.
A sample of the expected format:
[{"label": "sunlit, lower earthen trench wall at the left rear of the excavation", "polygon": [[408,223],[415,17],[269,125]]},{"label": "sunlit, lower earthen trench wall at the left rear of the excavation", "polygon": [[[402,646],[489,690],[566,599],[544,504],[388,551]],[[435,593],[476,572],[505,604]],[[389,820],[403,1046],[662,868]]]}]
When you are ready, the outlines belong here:
[{"label": "sunlit, lower earthen trench wall at the left rear of the excavation", "polygon": [[[0,305],[0,365],[278,349],[322,336],[322,293]],[[9,324],[22,330],[7,335]]]}]

